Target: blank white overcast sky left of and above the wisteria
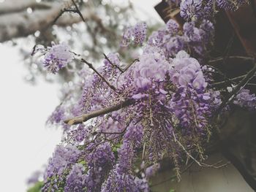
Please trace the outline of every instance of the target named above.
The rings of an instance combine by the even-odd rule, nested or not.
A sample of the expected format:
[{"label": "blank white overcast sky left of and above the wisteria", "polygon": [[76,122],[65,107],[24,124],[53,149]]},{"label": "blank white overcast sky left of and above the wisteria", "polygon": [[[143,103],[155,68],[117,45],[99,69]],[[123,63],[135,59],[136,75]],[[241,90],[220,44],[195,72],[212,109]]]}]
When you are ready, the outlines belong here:
[{"label": "blank white overcast sky left of and above the wisteria", "polygon": [[[159,1],[132,0],[138,12],[160,20],[154,11]],[[14,47],[0,44],[0,58],[0,191],[24,192],[26,179],[42,168],[61,139],[61,130],[45,128],[59,104],[58,89],[43,81],[37,86],[24,82],[26,69]]]}]

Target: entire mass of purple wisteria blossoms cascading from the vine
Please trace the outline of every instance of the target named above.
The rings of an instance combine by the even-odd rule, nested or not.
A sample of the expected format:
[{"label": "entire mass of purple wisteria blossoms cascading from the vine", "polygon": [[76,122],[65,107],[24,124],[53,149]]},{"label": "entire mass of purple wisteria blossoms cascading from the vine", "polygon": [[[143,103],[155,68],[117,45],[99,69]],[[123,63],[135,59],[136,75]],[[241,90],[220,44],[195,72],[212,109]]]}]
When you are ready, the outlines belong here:
[{"label": "entire mass of purple wisteria blossoms cascading from the vine", "polygon": [[[63,127],[64,145],[48,161],[43,192],[150,191],[163,159],[173,163],[178,180],[184,156],[197,154],[198,161],[204,160],[203,145],[216,128],[211,120],[223,96],[211,86],[214,69],[206,64],[214,24],[207,15],[202,18],[203,12],[208,4],[233,9],[232,4],[244,2],[172,2],[181,6],[187,23],[169,20],[151,34],[131,64],[110,53],[96,69],[67,45],[39,50],[52,73],[72,59],[86,65],[48,120]],[[143,45],[146,23],[127,28],[123,37],[125,46]],[[242,89],[233,104],[256,110],[255,102],[255,95]]]}]

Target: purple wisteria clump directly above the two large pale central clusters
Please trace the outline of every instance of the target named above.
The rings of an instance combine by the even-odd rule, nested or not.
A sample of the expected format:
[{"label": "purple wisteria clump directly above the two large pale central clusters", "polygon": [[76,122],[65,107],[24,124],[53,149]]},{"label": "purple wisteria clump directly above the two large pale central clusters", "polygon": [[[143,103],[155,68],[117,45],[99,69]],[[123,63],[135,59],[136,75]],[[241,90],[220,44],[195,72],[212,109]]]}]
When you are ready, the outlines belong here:
[{"label": "purple wisteria clump directly above the two large pale central clusters", "polygon": [[169,20],[164,29],[154,31],[148,38],[148,45],[159,47],[166,58],[173,58],[180,50],[186,50],[196,58],[204,58],[214,37],[214,25],[203,20],[200,25],[184,23],[183,31],[175,20]]}]

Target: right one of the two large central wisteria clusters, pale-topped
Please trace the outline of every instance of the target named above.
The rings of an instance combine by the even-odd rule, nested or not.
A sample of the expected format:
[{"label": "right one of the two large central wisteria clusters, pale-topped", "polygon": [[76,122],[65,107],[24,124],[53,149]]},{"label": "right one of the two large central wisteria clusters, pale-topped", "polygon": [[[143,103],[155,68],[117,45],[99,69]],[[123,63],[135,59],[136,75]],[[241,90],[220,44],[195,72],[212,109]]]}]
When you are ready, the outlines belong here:
[{"label": "right one of the two large central wisteria clusters, pale-topped", "polygon": [[206,91],[207,82],[200,64],[195,58],[188,58],[184,52],[173,59],[174,70],[170,77],[178,90],[173,93],[170,106],[183,128],[191,127],[203,133],[207,125],[206,117],[211,114],[211,93]]}]

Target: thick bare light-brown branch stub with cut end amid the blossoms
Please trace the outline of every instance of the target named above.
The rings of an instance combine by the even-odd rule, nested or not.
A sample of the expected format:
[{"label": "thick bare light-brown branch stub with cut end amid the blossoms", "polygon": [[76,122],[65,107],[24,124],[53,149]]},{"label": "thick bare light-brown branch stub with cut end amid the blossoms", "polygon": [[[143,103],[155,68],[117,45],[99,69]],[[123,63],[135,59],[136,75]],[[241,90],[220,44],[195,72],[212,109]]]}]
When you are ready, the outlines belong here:
[{"label": "thick bare light-brown branch stub with cut end amid the blossoms", "polygon": [[86,120],[89,120],[91,118],[97,118],[101,115],[108,114],[109,112],[121,110],[122,108],[128,107],[128,106],[130,106],[134,103],[135,103],[135,101],[133,101],[131,99],[128,99],[127,101],[123,101],[119,104],[116,104],[116,105],[113,105],[113,106],[110,106],[110,107],[106,107],[106,108],[103,108],[101,110],[97,110],[97,111],[94,111],[94,112],[89,112],[87,114],[80,115],[80,116],[75,117],[75,118],[64,120],[64,123],[67,123],[70,126],[71,125],[76,125],[76,124],[79,124],[79,123],[86,122]]}]

